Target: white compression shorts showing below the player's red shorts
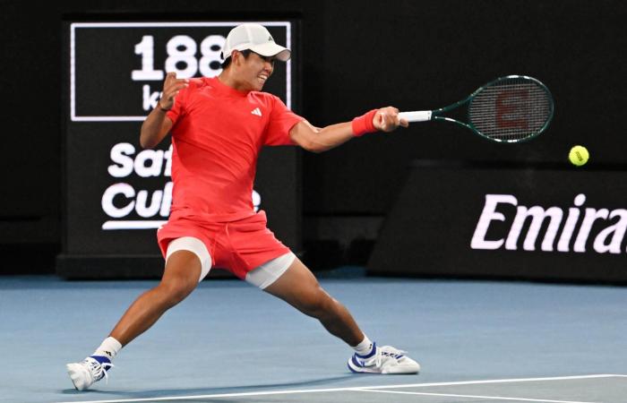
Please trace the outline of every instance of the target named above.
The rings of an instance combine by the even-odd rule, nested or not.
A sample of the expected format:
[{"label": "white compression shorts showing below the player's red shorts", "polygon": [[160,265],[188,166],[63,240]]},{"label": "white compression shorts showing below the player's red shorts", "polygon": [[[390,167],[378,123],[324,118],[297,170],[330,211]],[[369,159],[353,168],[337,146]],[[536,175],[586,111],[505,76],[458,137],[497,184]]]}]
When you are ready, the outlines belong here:
[{"label": "white compression shorts showing below the player's red shorts", "polygon": [[[176,251],[189,251],[198,256],[198,259],[201,261],[201,277],[198,281],[200,282],[207,277],[211,269],[211,255],[200,239],[193,236],[183,236],[167,244],[166,262],[172,253]],[[253,286],[264,289],[279,279],[288,270],[294,259],[296,259],[296,255],[289,252],[272,259],[270,262],[265,262],[249,271],[246,274],[246,281],[253,284]]]}]

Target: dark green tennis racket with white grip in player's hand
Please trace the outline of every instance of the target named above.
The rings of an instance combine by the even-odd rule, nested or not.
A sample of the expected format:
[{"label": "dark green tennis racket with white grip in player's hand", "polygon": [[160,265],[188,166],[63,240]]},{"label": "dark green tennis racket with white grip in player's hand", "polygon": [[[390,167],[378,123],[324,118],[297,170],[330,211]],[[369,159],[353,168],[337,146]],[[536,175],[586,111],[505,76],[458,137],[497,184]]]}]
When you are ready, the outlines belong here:
[{"label": "dark green tennis racket with white grip in player's hand", "polygon": [[[458,108],[460,118],[444,116]],[[553,112],[553,97],[545,84],[524,75],[508,75],[488,82],[467,99],[448,107],[401,112],[399,118],[408,122],[444,120],[460,124],[487,140],[520,142],[544,132]],[[464,117],[466,122],[462,120]]]}]

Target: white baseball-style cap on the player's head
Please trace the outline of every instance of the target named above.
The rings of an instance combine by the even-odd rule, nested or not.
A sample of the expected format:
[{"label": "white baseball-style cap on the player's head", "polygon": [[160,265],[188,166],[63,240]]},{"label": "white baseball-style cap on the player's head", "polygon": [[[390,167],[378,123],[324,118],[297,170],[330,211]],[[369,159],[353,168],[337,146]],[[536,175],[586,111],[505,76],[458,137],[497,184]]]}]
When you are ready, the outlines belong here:
[{"label": "white baseball-style cap on the player's head", "polygon": [[233,50],[250,49],[261,56],[277,56],[281,62],[287,62],[292,55],[291,50],[274,42],[268,30],[262,25],[245,23],[237,25],[228,32],[220,57],[222,60],[231,56]]}]

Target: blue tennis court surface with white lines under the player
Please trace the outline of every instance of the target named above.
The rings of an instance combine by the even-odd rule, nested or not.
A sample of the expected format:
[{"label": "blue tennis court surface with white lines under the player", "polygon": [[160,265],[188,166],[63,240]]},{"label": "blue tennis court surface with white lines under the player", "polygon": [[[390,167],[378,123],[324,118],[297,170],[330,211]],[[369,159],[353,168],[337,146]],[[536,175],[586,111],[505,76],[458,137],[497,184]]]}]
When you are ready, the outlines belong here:
[{"label": "blue tennis court surface with white lines under the player", "polygon": [[[338,272],[341,272],[338,271]],[[0,401],[627,402],[627,289],[423,279],[321,279],[419,375],[349,373],[351,350],[238,280],[200,287],[125,347],[108,384],[73,389],[89,355],[156,281],[0,278]]]}]

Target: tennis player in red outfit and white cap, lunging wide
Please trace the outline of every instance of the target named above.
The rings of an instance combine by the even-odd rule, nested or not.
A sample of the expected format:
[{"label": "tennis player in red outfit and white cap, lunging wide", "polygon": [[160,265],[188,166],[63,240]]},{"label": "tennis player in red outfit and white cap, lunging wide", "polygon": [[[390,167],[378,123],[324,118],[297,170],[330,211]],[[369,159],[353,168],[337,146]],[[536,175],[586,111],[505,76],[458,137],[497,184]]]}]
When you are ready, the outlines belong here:
[{"label": "tennis player in red outfit and white cap, lunging wide", "polygon": [[297,116],[277,97],[261,92],[275,60],[290,50],[277,45],[258,24],[228,34],[223,71],[215,78],[177,79],[168,73],[163,95],[142,124],[142,147],[152,148],[172,133],[173,203],[157,233],[166,267],[159,286],[137,298],[93,355],[67,364],[77,390],[107,376],[111,361],[181,302],[212,266],[228,268],[265,292],[322,322],[355,349],[348,368],[355,373],[418,373],[403,352],[378,347],[359,329],[348,310],[327,294],[310,270],[253,211],[255,166],[264,145],[296,144],[320,152],[364,133],[391,132],[408,122],[398,109],[374,109],[352,122],[322,129]]}]

